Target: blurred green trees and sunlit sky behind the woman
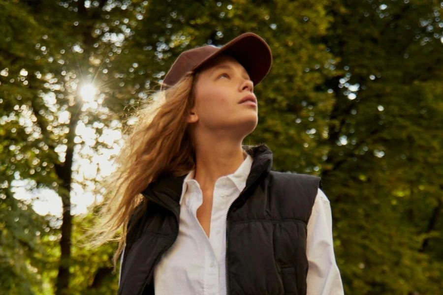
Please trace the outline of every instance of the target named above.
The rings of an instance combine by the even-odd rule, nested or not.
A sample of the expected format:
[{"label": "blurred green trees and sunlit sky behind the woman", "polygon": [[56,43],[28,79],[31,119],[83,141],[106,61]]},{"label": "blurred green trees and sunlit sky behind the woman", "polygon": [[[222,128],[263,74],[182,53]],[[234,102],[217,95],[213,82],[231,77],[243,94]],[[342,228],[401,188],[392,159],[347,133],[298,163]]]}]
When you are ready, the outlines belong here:
[{"label": "blurred green trees and sunlit sky behind the woman", "polygon": [[182,51],[252,31],[274,60],[245,144],[266,143],[274,170],[322,178],[345,293],[443,294],[442,12],[437,0],[0,0],[1,293],[116,294],[116,243],[77,241],[131,113]]}]

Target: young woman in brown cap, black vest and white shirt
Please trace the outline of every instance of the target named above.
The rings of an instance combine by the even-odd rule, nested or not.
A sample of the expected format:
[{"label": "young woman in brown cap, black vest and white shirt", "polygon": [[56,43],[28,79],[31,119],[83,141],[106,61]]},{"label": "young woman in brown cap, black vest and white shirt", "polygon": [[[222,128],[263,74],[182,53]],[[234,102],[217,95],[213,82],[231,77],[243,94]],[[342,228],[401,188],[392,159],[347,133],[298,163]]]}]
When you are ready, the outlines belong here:
[{"label": "young woman in brown cap, black vest and white shirt", "polygon": [[343,294],[320,178],[243,145],[271,63],[253,33],[188,50],[137,114],[98,227],[123,228],[119,295]]}]

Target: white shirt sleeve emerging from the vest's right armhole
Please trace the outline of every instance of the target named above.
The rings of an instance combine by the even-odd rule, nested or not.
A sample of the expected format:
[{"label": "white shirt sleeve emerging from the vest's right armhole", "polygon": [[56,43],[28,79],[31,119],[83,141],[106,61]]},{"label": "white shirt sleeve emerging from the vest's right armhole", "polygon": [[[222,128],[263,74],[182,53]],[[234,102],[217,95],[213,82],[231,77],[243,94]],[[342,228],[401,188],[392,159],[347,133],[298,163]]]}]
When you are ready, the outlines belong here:
[{"label": "white shirt sleeve emerging from the vest's right armhole", "polygon": [[332,213],[319,188],[307,226],[307,295],[344,295],[332,241]]}]

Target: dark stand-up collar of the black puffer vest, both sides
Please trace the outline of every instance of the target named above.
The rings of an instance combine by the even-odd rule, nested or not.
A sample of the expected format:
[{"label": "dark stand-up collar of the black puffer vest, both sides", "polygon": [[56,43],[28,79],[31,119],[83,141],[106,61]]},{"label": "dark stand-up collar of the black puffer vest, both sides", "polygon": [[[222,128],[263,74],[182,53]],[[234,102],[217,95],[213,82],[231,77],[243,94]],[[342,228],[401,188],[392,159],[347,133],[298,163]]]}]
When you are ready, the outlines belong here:
[{"label": "dark stand-up collar of the black puffer vest, both sides", "polygon": [[[265,177],[272,168],[272,151],[265,145],[243,146],[245,151],[253,157],[251,172],[246,179],[245,190],[252,189]],[[163,176],[151,182],[142,194],[158,205],[172,210],[176,216],[180,214],[180,197],[182,195],[183,181],[186,175]],[[243,192],[241,195],[243,195]]]}]

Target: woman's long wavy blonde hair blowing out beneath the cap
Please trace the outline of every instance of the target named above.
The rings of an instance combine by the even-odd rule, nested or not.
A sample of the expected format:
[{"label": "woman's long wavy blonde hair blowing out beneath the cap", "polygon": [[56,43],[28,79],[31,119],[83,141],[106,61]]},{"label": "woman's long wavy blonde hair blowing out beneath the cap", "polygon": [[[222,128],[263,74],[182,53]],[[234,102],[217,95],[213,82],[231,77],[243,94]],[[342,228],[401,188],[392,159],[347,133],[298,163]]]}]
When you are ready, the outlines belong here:
[{"label": "woman's long wavy blonde hair blowing out beneath the cap", "polygon": [[135,208],[141,207],[142,213],[146,209],[147,200],[141,192],[162,174],[183,176],[195,168],[187,118],[194,105],[193,85],[197,76],[190,72],[173,87],[150,96],[134,114],[137,123],[125,132],[127,140],[115,159],[117,169],[103,185],[103,202],[83,243],[97,247],[119,241],[112,259],[114,271]]}]

